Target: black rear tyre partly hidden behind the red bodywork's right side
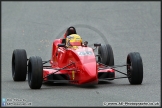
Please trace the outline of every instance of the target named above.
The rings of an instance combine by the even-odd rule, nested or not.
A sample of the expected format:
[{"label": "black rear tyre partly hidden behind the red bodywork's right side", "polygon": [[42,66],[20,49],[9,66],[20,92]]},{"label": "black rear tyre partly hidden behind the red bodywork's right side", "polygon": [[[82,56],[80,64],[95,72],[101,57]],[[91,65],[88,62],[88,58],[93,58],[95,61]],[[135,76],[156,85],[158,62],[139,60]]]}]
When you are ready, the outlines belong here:
[{"label": "black rear tyre partly hidden behind the red bodywork's right side", "polygon": [[108,66],[114,65],[114,54],[112,47],[109,44],[101,45],[98,48],[98,62]]}]

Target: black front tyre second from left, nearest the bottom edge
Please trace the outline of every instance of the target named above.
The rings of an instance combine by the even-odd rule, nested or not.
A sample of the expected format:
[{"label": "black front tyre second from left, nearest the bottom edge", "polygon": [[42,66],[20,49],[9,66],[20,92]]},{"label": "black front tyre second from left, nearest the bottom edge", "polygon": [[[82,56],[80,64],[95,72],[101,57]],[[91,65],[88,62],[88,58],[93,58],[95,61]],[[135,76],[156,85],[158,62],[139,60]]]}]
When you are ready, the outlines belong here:
[{"label": "black front tyre second from left, nearest the bottom edge", "polygon": [[28,84],[31,89],[40,89],[43,82],[43,64],[41,57],[32,56],[28,62]]}]

